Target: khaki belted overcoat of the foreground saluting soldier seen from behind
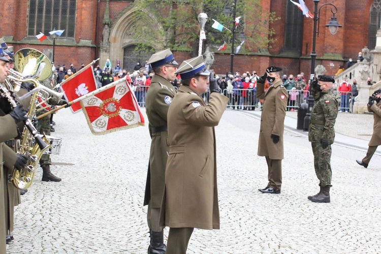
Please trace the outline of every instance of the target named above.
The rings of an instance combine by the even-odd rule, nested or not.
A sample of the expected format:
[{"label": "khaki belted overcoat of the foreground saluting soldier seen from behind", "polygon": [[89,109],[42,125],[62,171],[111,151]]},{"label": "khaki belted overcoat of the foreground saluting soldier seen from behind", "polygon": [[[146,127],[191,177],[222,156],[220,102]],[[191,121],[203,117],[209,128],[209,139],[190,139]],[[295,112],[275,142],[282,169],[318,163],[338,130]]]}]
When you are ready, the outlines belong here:
[{"label": "khaki belted overcoat of the foreground saluting soldier seen from behind", "polygon": [[210,94],[209,104],[182,85],[168,111],[170,151],[161,226],[219,229],[214,126],[229,99]]}]

